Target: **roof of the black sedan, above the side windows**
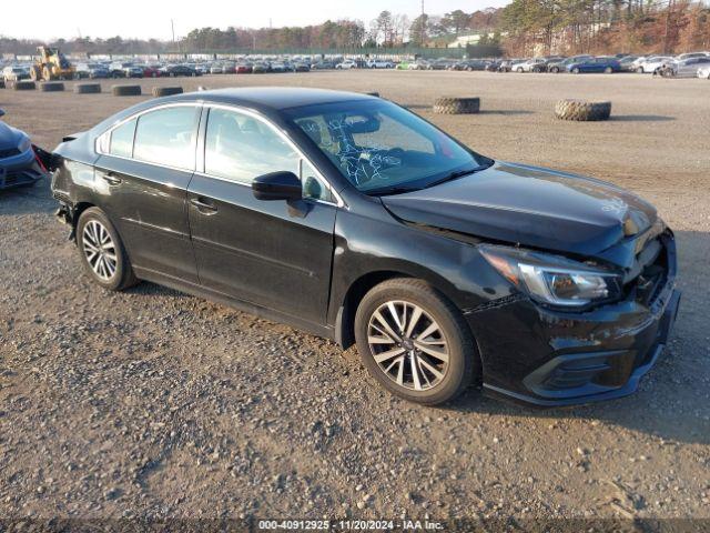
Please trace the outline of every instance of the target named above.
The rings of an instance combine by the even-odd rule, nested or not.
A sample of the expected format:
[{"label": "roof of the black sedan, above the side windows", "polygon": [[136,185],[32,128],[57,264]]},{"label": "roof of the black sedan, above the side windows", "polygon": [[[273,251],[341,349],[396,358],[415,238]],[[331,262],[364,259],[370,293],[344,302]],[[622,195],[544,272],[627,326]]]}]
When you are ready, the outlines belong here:
[{"label": "roof of the black sedan, above the side windows", "polygon": [[210,91],[190,92],[171,97],[166,100],[205,101],[216,103],[234,103],[246,107],[284,110],[313,105],[317,103],[337,103],[353,100],[368,100],[373,97],[356,92],[331,91],[326,89],[307,89],[295,87],[250,87],[216,89]]}]

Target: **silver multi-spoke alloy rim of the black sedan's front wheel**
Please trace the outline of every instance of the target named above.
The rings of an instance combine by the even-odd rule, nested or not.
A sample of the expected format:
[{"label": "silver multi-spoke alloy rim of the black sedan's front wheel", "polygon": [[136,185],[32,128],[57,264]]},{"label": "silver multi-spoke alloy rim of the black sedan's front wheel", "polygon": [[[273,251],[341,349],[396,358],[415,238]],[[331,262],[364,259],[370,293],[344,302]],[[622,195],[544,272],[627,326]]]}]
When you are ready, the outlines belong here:
[{"label": "silver multi-spoke alloy rim of the black sedan's front wheel", "polygon": [[448,371],[446,335],[417,304],[402,300],[383,303],[369,318],[367,343],[379,370],[405,389],[432,390]]}]

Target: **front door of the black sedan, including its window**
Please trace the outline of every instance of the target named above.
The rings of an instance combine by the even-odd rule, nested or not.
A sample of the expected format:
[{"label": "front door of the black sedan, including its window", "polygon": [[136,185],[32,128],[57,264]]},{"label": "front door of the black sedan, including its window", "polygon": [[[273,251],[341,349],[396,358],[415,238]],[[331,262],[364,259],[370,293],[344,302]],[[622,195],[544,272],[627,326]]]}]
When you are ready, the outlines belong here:
[{"label": "front door of the black sedan, including its window", "polygon": [[[327,183],[280,130],[250,111],[209,108],[201,138],[204,160],[187,191],[201,283],[323,324],[338,209]],[[301,177],[302,201],[254,198],[252,180],[276,171]]]}]

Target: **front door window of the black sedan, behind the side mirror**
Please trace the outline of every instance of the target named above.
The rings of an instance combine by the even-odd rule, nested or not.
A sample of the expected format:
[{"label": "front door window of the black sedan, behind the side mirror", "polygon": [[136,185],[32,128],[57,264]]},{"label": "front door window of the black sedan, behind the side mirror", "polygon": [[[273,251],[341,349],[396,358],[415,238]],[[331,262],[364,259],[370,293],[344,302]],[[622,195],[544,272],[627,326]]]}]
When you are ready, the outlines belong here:
[{"label": "front door window of the black sedan, behind the side mirror", "polygon": [[271,172],[293,172],[304,184],[304,198],[331,201],[328,188],[291,144],[263,121],[237,111],[210,110],[204,171],[246,184]]}]

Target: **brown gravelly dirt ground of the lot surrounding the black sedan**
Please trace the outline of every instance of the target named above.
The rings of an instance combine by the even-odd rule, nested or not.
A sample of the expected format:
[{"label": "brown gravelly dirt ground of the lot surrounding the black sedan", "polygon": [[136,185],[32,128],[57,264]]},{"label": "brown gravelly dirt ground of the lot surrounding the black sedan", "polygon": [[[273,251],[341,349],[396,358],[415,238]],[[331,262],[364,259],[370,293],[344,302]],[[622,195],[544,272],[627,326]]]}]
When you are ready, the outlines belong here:
[{"label": "brown gravelly dirt ground of the lot surrounding the black sedan", "polygon": [[[631,189],[678,235],[668,356],[633,396],[592,406],[475,391],[407,404],[354,350],[153,284],[103,292],[42,183],[0,194],[0,517],[710,517],[710,82],[351,71],[141,84],[379,91],[484,154]],[[479,95],[483,111],[434,115],[439,95]],[[0,89],[0,108],[51,149],[140,98]],[[558,121],[559,98],[609,99],[612,120]]]}]

